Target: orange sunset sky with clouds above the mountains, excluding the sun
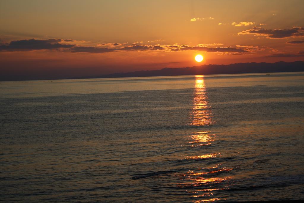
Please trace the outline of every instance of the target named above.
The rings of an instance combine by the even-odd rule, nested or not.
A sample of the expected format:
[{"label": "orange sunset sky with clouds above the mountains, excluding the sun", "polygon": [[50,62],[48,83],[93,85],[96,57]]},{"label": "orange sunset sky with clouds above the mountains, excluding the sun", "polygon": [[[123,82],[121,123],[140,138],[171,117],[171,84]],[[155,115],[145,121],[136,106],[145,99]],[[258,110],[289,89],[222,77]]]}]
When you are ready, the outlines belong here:
[{"label": "orange sunset sky with clouds above the mountains, excluding the sun", "polygon": [[303,61],[303,8],[303,0],[0,0],[0,80]]}]

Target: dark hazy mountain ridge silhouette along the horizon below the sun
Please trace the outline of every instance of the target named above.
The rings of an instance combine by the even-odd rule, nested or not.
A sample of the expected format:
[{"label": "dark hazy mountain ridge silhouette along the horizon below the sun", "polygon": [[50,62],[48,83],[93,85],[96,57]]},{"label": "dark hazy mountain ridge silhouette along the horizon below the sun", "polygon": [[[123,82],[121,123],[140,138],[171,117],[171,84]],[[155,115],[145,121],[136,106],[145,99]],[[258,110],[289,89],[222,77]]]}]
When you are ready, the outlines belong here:
[{"label": "dark hazy mountain ridge silhouette along the horizon below the sun", "polygon": [[147,76],[173,76],[173,75],[215,75],[235,73],[265,73],[265,72],[301,72],[304,71],[304,61],[275,63],[235,63],[230,65],[201,65],[185,68],[163,68],[161,70],[136,71],[127,73],[112,73],[101,76],[74,77],[82,78],[124,78],[124,77],[147,77]]}]

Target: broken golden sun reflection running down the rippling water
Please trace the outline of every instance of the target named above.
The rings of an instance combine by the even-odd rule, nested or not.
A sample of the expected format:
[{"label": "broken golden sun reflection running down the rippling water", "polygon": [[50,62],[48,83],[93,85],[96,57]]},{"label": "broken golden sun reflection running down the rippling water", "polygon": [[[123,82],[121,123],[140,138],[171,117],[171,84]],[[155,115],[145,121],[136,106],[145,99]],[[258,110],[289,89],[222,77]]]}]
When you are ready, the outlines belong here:
[{"label": "broken golden sun reflection running down the rippling water", "polygon": [[[204,76],[196,75],[190,125],[208,126],[213,123],[214,121],[212,121],[212,110],[209,105]],[[206,145],[212,145],[215,140],[216,135],[211,131],[198,131],[191,133],[188,143],[190,144],[190,147],[203,148],[206,147]],[[209,154],[189,156],[188,159],[212,159],[218,156],[221,156],[219,152],[213,152]],[[221,165],[215,165],[211,167],[190,170],[182,175],[181,180],[185,182],[179,186],[194,188],[194,190],[188,190],[188,193],[193,194],[192,198],[195,198],[193,202],[212,202],[220,200],[220,198],[212,198],[214,192],[224,189],[216,187],[216,185],[230,179],[230,177],[217,176],[216,174],[232,170],[232,168],[221,168],[220,166]]]}]

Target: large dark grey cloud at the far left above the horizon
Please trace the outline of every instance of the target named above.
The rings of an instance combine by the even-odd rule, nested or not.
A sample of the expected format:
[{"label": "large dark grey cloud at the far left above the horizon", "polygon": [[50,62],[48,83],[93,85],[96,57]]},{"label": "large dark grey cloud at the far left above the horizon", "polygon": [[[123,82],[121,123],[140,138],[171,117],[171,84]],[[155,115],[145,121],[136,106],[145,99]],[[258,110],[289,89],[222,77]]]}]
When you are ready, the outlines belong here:
[{"label": "large dark grey cloud at the far left above the horizon", "polygon": [[17,40],[11,41],[9,45],[0,46],[0,51],[33,51],[33,50],[52,50],[59,48],[71,48],[74,44],[60,44],[62,39],[48,39],[48,40]]}]

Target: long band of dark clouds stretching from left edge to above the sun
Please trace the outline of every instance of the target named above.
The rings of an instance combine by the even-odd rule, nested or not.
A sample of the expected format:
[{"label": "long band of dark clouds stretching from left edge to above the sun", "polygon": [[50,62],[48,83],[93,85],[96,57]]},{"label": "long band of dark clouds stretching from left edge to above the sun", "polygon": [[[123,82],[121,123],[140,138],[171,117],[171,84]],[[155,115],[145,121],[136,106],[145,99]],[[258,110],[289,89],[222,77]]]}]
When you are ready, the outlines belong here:
[{"label": "long band of dark clouds stretching from left edge to above the sun", "polygon": [[[70,42],[70,41],[69,41]],[[206,52],[231,52],[231,53],[244,53],[250,52],[250,48],[245,46],[237,47],[218,47],[222,46],[221,43],[213,44],[198,44],[197,46],[189,46],[186,44],[167,44],[167,45],[147,45],[143,42],[135,42],[130,46],[125,46],[127,43],[102,43],[95,46],[81,46],[79,44],[61,44],[65,43],[62,39],[48,39],[48,40],[18,40],[11,41],[9,44],[0,45],[0,51],[34,51],[34,50],[59,50],[70,51],[72,53],[109,53],[115,51],[186,51],[197,50]],[[138,44],[140,43],[140,44]],[[104,46],[104,47],[103,47]],[[257,48],[257,47],[256,47]]]}]

